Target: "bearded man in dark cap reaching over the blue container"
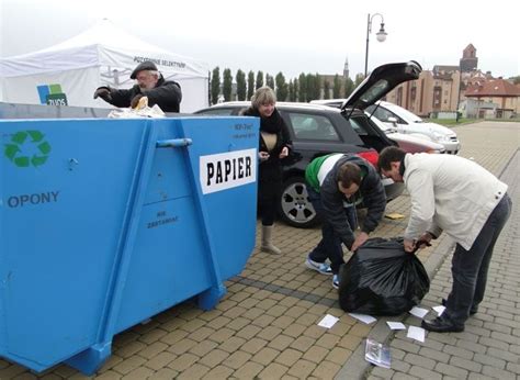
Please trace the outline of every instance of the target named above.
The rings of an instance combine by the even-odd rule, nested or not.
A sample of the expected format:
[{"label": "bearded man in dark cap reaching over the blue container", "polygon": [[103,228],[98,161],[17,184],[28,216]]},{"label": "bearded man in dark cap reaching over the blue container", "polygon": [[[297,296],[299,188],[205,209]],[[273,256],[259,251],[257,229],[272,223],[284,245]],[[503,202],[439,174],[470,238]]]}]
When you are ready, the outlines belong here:
[{"label": "bearded man in dark cap reaching over the blue container", "polygon": [[137,80],[131,89],[116,90],[108,86],[94,91],[98,97],[115,107],[135,108],[143,97],[148,98],[150,107],[157,104],[165,112],[179,112],[182,100],[181,87],[172,80],[165,80],[152,62],[144,62],[134,69],[131,79]]}]

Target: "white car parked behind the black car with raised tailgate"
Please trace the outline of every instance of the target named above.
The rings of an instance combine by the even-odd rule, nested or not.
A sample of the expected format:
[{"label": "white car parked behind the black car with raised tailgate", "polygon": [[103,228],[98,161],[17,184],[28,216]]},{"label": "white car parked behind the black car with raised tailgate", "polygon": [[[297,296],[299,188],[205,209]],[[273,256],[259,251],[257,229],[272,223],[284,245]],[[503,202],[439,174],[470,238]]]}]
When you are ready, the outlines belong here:
[{"label": "white car parked behind the black car with raised tailgate", "polygon": [[[310,103],[341,108],[347,99],[312,100]],[[377,119],[387,127],[387,132],[395,131],[400,134],[429,139],[444,147],[445,153],[456,155],[461,149],[461,143],[456,133],[436,123],[425,122],[410,111],[387,101],[376,101],[365,108],[372,118]],[[380,125],[381,126],[381,125]],[[396,139],[400,136],[396,135]]]}]

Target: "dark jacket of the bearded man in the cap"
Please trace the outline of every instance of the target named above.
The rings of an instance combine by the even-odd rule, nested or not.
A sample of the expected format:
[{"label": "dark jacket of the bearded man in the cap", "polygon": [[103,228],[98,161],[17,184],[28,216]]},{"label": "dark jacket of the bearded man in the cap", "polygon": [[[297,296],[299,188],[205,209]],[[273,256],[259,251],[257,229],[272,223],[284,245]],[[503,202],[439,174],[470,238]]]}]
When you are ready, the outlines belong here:
[{"label": "dark jacket of the bearded man in the cap", "polygon": [[131,107],[132,99],[137,94],[142,94],[148,97],[149,107],[157,104],[165,112],[179,112],[179,104],[182,100],[180,85],[172,80],[165,80],[162,76],[152,89],[142,90],[138,85],[135,85],[127,90],[115,90],[111,88],[110,94],[112,99],[105,99],[105,101],[115,107]]}]

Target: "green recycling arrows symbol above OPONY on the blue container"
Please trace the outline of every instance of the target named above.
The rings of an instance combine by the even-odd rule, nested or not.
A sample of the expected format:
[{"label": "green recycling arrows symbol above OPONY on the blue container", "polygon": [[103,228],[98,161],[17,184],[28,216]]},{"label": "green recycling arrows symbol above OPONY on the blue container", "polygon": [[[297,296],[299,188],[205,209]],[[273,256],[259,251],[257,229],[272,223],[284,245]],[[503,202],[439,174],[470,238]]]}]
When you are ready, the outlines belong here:
[{"label": "green recycling arrows symbol above OPONY on the blue container", "polygon": [[11,137],[11,143],[5,144],[5,157],[20,168],[44,165],[52,150],[44,137],[39,131],[16,132]]}]

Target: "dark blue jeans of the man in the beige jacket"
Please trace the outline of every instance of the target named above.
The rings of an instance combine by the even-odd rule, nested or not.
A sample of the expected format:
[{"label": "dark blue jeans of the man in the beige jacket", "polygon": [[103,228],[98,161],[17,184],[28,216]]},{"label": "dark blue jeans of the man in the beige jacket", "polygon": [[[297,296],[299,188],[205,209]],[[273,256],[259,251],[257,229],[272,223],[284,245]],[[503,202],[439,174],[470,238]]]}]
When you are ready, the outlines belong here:
[{"label": "dark blue jeans of the man in the beige jacket", "polygon": [[487,271],[493,249],[511,214],[511,199],[506,193],[484,224],[470,250],[459,244],[452,259],[453,287],[442,317],[455,325],[464,325],[470,310],[478,306],[486,291]]}]

